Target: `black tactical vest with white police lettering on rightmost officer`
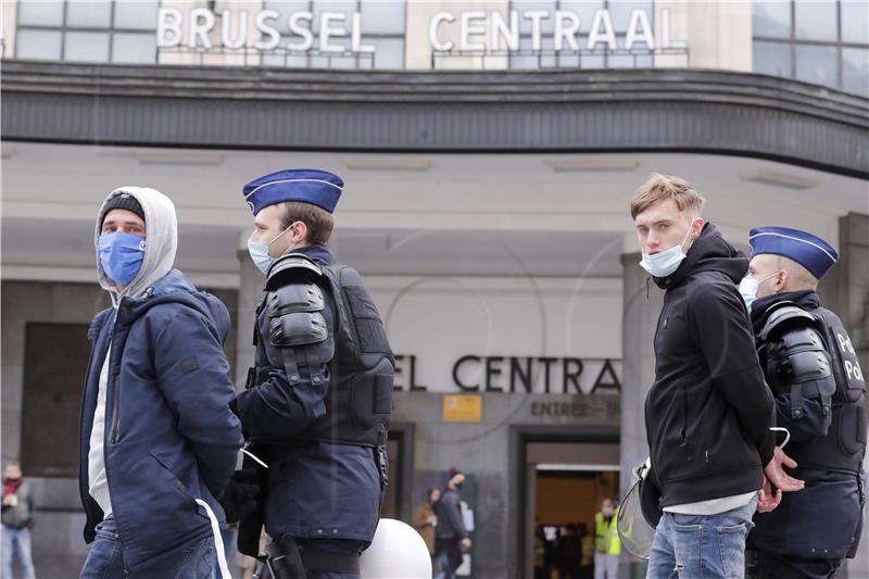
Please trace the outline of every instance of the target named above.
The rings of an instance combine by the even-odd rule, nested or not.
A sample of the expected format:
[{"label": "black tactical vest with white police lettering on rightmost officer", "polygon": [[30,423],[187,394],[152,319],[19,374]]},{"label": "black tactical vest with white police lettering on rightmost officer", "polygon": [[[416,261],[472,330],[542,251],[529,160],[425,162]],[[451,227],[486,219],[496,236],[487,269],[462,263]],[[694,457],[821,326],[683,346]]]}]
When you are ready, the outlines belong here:
[{"label": "black tactical vest with white police lettering on rightmost officer", "polygon": [[830,356],[836,385],[833,416],[826,437],[792,442],[785,453],[801,467],[859,474],[866,453],[866,379],[839,316],[823,307],[807,312],[817,322]]}]

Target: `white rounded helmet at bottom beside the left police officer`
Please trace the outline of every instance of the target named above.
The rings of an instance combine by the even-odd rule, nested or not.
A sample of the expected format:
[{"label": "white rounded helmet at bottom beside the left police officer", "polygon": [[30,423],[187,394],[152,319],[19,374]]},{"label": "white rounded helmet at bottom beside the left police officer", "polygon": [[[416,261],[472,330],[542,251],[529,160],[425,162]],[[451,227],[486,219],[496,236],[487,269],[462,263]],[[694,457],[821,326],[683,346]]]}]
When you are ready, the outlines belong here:
[{"label": "white rounded helmet at bottom beside the left police officer", "polygon": [[360,559],[362,579],[431,579],[426,542],[410,525],[381,518]]}]

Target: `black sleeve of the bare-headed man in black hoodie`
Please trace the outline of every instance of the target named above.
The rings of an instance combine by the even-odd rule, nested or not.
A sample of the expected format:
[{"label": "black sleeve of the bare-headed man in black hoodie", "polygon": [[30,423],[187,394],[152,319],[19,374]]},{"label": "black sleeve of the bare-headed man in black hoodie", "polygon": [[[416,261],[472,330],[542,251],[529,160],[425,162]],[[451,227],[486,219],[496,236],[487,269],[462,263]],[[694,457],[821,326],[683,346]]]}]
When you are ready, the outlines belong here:
[{"label": "black sleeve of the bare-headed man in black hoodie", "polygon": [[772,458],[776,425],[772,393],[764,380],[745,305],[735,286],[710,284],[690,298],[697,343],[713,385],[733,407],[766,466]]}]

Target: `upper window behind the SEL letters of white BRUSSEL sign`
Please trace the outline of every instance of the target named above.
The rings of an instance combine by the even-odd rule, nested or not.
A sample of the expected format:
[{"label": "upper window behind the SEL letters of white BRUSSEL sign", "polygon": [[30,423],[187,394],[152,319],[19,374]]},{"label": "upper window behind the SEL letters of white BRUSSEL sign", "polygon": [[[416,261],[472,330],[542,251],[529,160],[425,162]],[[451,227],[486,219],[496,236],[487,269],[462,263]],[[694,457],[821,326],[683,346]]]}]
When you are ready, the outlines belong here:
[{"label": "upper window behind the SEL letters of white BRUSSEL sign", "polygon": [[[314,17],[310,29],[314,35],[314,45],[310,51],[292,52],[285,47],[289,42],[298,42],[297,36],[289,36],[284,26],[278,49],[263,54],[264,66],[288,68],[358,68],[358,70],[400,70],[404,68],[404,30],[405,0],[302,0],[282,1],[266,0],[263,9],[274,10],[280,14],[278,22],[287,22],[291,14],[311,12]],[[374,47],[374,52],[351,51],[351,37],[332,37],[331,42],[343,45],[343,52],[323,52],[319,50],[320,15],[324,12],[345,14],[342,27],[351,27],[351,17],[361,15],[361,42]],[[307,26],[306,23],[302,23]]]}]

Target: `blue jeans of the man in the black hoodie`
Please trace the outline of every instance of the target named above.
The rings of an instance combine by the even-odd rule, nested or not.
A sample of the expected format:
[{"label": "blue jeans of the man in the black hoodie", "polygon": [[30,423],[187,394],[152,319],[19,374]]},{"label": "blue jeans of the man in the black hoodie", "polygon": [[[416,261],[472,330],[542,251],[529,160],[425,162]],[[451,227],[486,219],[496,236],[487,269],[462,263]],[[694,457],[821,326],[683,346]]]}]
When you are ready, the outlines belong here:
[{"label": "blue jeans of the man in the black hoodie", "polygon": [[745,538],[757,498],[718,515],[664,513],[655,529],[646,579],[742,579]]}]

